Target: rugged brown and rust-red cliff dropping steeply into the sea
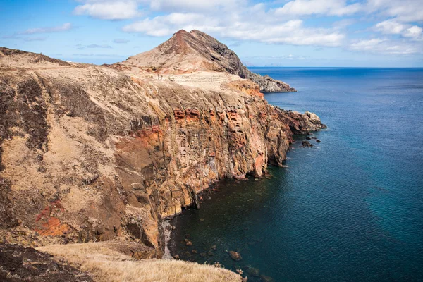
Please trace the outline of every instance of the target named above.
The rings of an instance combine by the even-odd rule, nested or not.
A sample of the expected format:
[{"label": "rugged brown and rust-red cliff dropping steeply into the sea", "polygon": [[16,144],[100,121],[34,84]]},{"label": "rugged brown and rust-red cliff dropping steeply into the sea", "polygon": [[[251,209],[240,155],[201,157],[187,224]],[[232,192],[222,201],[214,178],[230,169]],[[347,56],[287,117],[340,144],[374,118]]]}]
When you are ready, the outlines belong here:
[{"label": "rugged brown and rust-red cliff dropping steeply into the sea", "polygon": [[324,128],[235,75],[197,88],[192,76],[124,71],[0,49],[4,240],[126,238],[160,257],[161,219],[198,206],[220,178],[262,176],[282,164],[293,133]]}]

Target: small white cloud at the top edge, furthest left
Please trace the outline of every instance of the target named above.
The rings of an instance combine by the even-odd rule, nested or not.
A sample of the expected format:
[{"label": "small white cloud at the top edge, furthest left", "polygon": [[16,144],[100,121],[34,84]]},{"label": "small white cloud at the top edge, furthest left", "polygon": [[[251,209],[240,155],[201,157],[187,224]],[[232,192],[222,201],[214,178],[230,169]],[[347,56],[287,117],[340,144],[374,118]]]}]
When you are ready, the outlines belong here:
[{"label": "small white cloud at the top edge, furthest left", "polygon": [[73,13],[102,20],[125,20],[140,16],[138,3],[134,0],[88,1],[86,4],[76,6]]}]

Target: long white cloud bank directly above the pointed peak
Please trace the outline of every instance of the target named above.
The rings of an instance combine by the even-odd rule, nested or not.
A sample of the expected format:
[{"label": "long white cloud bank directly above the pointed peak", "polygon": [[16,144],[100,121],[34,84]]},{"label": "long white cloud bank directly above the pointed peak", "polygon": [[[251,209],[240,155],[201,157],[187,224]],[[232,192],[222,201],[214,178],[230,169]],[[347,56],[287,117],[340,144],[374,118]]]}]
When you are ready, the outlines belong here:
[{"label": "long white cloud bank directly above the pointed peak", "polygon": [[240,15],[236,18],[238,20],[233,20],[233,15],[218,18],[200,13],[171,13],[126,25],[123,31],[161,37],[172,35],[180,29],[196,29],[235,40],[319,46],[340,46],[345,38],[345,35],[334,30],[305,27],[302,20],[268,24],[261,18],[243,18]]}]

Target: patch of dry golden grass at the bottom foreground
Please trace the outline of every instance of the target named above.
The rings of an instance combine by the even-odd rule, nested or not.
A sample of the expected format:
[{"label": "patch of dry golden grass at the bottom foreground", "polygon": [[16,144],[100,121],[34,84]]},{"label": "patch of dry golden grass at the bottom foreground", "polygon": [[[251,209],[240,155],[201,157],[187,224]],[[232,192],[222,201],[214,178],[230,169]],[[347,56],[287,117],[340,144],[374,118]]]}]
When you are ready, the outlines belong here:
[{"label": "patch of dry golden grass at the bottom foreground", "polygon": [[38,250],[90,272],[96,281],[241,281],[238,274],[211,265],[163,259],[137,261],[114,250],[112,243],[50,245]]}]

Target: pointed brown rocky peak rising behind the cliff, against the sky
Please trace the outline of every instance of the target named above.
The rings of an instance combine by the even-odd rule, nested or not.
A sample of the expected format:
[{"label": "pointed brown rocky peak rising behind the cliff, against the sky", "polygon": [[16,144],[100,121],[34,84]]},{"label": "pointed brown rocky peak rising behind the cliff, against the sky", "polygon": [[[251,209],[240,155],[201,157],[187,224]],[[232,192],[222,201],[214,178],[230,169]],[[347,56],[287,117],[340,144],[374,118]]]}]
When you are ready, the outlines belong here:
[{"label": "pointed brown rocky peak rising behind the cliff, against the sky", "polygon": [[257,83],[262,92],[294,92],[285,82],[268,75],[252,73],[241,63],[234,51],[214,37],[199,30],[179,30],[158,47],[117,63],[124,68],[140,68],[161,74],[183,74],[216,71],[238,75]]}]

